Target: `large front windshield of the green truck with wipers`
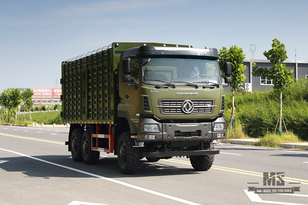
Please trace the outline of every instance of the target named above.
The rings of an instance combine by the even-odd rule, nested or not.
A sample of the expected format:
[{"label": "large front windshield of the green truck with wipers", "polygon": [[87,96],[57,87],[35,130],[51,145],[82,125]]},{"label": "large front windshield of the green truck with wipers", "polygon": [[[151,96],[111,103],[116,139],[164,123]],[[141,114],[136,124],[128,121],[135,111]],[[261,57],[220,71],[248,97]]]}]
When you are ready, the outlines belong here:
[{"label": "large front windshield of the green truck with wipers", "polygon": [[[176,85],[221,84],[218,60],[215,58],[151,58],[143,66],[143,81],[147,84],[165,84],[163,81]],[[147,59],[148,57],[144,57]],[[207,82],[207,83],[205,83]]]}]

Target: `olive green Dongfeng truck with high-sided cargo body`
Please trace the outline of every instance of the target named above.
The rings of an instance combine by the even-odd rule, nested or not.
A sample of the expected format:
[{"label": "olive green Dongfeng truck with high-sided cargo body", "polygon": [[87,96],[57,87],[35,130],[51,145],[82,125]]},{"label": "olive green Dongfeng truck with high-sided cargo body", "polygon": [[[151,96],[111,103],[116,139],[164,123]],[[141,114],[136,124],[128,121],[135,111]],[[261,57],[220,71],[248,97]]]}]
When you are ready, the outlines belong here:
[{"label": "olive green Dongfeng truck with high-sided cargo body", "polygon": [[[62,62],[63,123],[74,161],[95,164],[114,153],[124,174],[186,156],[208,170],[225,137],[225,99],[215,48],[112,43]],[[225,59],[226,60],[226,59]],[[231,64],[225,61],[225,83]]]}]

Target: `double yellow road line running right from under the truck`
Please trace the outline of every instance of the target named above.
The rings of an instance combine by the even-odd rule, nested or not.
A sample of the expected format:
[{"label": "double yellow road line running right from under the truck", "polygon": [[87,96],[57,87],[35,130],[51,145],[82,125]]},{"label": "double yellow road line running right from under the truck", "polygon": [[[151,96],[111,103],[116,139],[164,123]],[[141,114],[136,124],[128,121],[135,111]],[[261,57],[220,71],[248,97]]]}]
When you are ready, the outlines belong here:
[{"label": "double yellow road line running right from under the truck", "polygon": [[[191,165],[190,162],[184,161],[184,160],[177,160],[177,159],[162,159],[164,161],[171,161],[171,162],[176,162],[180,164],[188,164]],[[229,167],[221,167],[221,166],[215,166],[212,165],[211,169],[218,169],[218,170],[223,170],[223,171],[228,171],[228,172],[236,172],[240,174],[247,174],[247,175],[252,175],[252,176],[260,176],[263,177],[263,173],[260,172],[252,172],[248,170],[243,170],[243,169],[236,169],[236,168],[229,168]],[[302,179],[296,179],[296,178],[291,178],[291,177],[281,177],[284,181],[289,181],[289,182],[300,182],[301,184],[308,184],[308,180],[302,180]]]}]

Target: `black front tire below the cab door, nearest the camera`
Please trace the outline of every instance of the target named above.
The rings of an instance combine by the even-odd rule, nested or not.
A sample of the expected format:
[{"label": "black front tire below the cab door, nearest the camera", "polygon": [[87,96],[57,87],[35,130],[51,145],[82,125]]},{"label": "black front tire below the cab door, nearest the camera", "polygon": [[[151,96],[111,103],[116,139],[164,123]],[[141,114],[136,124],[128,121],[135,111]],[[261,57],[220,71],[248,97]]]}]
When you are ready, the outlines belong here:
[{"label": "black front tire below the cab door, nearest the camera", "polygon": [[118,164],[123,174],[135,174],[140,165],[141,151],[129,132],[122,133],[118,141]]}]

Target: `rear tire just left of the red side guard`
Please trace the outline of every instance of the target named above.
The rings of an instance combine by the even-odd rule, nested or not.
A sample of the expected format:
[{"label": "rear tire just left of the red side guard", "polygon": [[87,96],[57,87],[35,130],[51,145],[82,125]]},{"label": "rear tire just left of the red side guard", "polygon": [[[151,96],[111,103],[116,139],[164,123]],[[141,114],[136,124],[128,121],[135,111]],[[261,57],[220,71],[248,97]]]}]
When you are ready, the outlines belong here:
[{"label": "rear tire just left of the red side guard", "polygon": [[96,164],[99,160],[99,151],[91,150],[91,131],[86,130],[82,136],[82,158],[85,164]]}]

